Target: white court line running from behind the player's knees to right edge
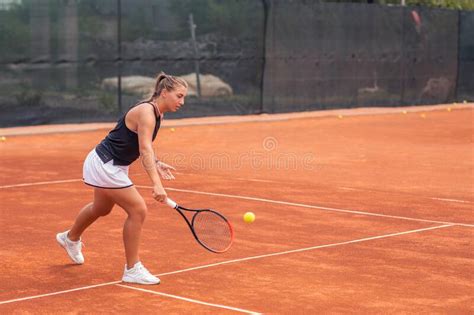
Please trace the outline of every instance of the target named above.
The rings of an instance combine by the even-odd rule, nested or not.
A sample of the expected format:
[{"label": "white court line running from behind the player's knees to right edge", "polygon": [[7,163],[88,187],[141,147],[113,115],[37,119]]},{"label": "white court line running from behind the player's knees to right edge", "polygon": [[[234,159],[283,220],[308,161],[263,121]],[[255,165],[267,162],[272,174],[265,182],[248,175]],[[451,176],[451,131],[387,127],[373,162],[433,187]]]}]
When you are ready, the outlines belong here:
[{"label": "white court line running from behind the player's knees to right edge", "polygon": [[[152,188],[151,186],[141,186],[141,185],[136,185],[136,187],[137,188],[150,188],[150,189]],[[381,213],[376,213],[376,212],[365,212],[365,211],[357,211],[357,210],[348,210],[348,209],[329,208],[329,207],[322,207],[322,206],[313,206],[313,205],[308,205],[308,204],[304,204],[304,203],[279,201],[279,200],[272,200],[272,199],[265,199],[265,198],[256,198],[256,197],[229,195],[229,194],[220,194],[220,193],[210,193],[210,192],[204,192],[204,191],[178,189],[178,188],[170,188],[170,187],[167,187],[165,189],[166,190],[171,190],[171,191],[198,194],[198,195],[208,195],[208,196],[226,197],[226,198],[234,198],[234,199],[242,199],[242,200],[260,201],[260,202],[275,203],[275,204],[280,204],[280,205],[285,205],[285,206],[294,206],[294,207],[301,207],[301,208],[318,209],[318,210],[324,210],[324,211],[351,213],[351,214],[358,214],[358,215],[366,215],[366,216],[374,216],[374,217],[382,217],[382,218],[391,218],[391,219],[400,219],[400,220],[408,220],[408,221],[417,221],[417,222],[427,222],[427,223],[449,224],[449,225],[459,225],[459,226],[465,226],[465,227],[474,227],[474,224],[468,224],[468,223],[456,223],[456,222],[418,219],[418,218],[404,217],[404,216],[398,216],[398,215],[381,214]]]}]

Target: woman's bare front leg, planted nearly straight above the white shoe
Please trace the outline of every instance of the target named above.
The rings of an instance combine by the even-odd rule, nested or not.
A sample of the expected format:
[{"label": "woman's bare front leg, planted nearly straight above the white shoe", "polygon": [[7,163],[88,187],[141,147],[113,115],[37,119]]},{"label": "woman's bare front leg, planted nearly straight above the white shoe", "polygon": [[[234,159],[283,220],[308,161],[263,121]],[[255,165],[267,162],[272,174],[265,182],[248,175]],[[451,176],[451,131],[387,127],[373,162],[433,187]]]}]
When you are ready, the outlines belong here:
[{"label": "woman's bare front leg, planted nearly straight above the white shoe", "polygon": [[145,200],[133,186],[123,189],[110,189],[106,191],[106,194],[128,214],[123,226],[123,242],[127,267],[132,268],[140,261],[138,249],[142,226],[147,213]]}]

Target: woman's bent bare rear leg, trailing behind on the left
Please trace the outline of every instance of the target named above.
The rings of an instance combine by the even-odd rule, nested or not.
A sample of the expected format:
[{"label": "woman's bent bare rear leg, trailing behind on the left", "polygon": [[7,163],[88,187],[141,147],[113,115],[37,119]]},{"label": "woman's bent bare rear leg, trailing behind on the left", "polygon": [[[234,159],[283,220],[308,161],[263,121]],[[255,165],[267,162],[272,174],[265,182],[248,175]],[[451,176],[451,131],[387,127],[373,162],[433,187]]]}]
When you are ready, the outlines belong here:
[{"label": "woman's bent bare rear leg, trailing behind on the left", "polygon": [[106,194],[106,190],[94,188],[94,201],[82,208],[68,233],[68,238],[71,241],[78,241],[89,225],[94,223],[99,217],[106,216],[112,211],[114,202]]}]

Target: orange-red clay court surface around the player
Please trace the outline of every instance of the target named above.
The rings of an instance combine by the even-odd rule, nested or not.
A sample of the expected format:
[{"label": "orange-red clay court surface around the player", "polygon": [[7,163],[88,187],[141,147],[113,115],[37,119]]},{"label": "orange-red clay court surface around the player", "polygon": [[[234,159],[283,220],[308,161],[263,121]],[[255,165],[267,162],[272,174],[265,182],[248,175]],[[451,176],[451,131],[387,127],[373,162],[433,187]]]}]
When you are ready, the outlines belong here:
[{"label": "orange-red clay court surface around the player", "polygon": [[105,131],[8,137],[0,313],[473,313],[473,122],[472,108],[442,108],[163,128],[169,195],[221,210],[236,234],[206,252],[132,166],[149,205],[141,258],[162,280],[134,287],[174,297],[117,285],[118,207],[84,234],[84,265],[55,242],[92,196],[82,161]]}]

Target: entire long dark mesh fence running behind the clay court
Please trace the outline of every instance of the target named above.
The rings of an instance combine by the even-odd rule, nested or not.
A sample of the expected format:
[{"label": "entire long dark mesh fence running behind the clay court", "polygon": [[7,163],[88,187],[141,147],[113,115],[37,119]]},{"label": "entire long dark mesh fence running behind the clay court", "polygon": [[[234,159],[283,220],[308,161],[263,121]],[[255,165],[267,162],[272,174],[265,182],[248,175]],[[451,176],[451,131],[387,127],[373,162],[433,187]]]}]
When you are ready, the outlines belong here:
[{"label": "entire long dark mesh fence running behind the clay court", "polygon": [[472,100],[473,29],[305,0],[0,2],[0,127],[114,121],[159,71],[190,83],[169,118]]}]

